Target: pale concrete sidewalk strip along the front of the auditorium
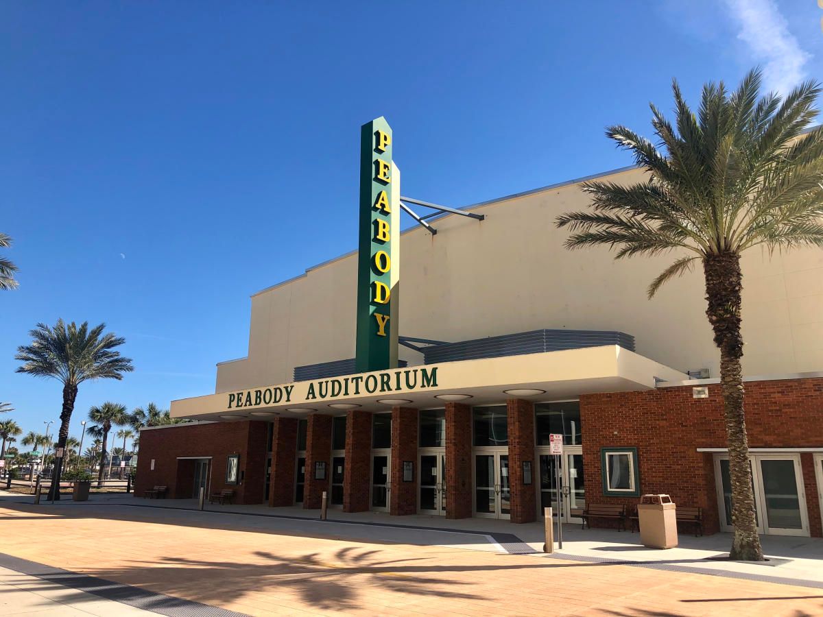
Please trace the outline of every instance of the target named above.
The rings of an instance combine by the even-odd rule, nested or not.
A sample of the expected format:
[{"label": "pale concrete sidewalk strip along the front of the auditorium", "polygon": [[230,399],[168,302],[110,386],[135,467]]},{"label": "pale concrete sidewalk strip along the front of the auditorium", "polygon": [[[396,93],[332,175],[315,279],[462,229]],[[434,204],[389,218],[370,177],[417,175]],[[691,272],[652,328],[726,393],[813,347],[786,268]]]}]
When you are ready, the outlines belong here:
[{"label": "pale concrete sidewalk strip along the front of the auditorium", "polygon": [[[19,495],[17,495],[19,497]],[[2,504],[2,499],[0,499]],[[95,495],[89,502],[63,502],[57,508],[105,508],[121,506],[134,509],[170,508],[197,510],[194,499],[142,499],[132,495]],[[47,505],[45,508],[51,508]],[[319,510],[268,508],[264,505],[206,504],[206,511],[226,517],[243,516],[245,525],[260,529],[289,531],[305,536],[328,536],[380,542],[483,550],[492,553],[526,553],[552,559],[571,559],[587,563],[616,563],[694,573],[728,576],[754,581],[784,582],[823,588],[823,539],[797,536],[761,536],[770,561],[763,564],[730,562],[728,533],[695,537],[680,535],[674,549],[647,549],[638,533],[606,529],[581,530],[579,525],[564,525],[562,550],[542,553],[542,522],[514,524],[486,518],[449,520],[431,515],[392,517],[385,513],[343,513],[328,510],[328,521],[319,520]],[[44,509],[44,513],[49,509]],[[200,515],[202,516],[202,515]]]}]

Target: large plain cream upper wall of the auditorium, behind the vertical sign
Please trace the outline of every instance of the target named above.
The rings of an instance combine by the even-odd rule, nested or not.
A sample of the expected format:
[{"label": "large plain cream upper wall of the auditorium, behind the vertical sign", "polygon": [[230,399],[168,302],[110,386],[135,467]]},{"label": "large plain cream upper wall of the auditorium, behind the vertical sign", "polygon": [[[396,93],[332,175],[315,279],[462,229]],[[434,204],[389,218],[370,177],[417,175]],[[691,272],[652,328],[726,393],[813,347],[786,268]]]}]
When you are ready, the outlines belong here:
[{"label": "large plain cream upper wall of the auditorium, behind the vertical sign", "polygon": [[[636,168],[597,176],[643,178]],[[400,334],[456,342],[542,328],[621,331],[635,336],[640,355],[717,377],[701,271],[648,299],[649,282],[676,253],[615,261],[605,248],[565,248],[569,232],[554,221],[588,206],[585,180],[469,206],[485,220],[442,216],[436,235],[404,232]],[[742,267],[744,374],[823,370],[823,250],[753,248]],[[289,383],[295,366],[354,357],[356,285],[354,251],[254,294],[249,355],[218,364],[216,392]],[[406,348],[401,358],[423,363]]]}]

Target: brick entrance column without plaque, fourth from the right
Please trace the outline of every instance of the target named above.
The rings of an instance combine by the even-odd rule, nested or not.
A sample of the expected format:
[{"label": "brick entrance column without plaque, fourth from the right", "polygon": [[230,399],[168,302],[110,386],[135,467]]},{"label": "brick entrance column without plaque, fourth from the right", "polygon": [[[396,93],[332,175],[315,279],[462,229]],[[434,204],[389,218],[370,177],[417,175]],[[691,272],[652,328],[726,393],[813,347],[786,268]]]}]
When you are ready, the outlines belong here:
[{"label": "brick entrance column without plaque, fourth from the right", "polygon": [[353,409],[346,413],[346,470],[343,475],[343,512],[369,510],[371,485],[371,414]]}]

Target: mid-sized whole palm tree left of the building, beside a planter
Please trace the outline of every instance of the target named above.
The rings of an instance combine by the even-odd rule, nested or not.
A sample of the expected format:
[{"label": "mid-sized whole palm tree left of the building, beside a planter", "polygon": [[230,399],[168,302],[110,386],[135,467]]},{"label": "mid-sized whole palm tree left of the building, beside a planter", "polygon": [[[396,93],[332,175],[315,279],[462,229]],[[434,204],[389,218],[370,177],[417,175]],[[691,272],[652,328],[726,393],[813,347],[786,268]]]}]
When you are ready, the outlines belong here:
[{"label": "mid-sized whole palm tree left of the building, beside a planter", "polygon": [[[104,334],[105,323],[89,328],[88,322],[78,327],[75,322],[66,324],[58,319],[54,327],[38,323],[29,332],[30,345],[17,347],[16,360],[23,364],[17,373],[29,373],[37,377],[50,377],[63,383],[63,411],[60,413],[58,448],[66,447],[68,424],[72,420],[77,387],[91,379],[122,379],[123,373],[134,370],[132,360],[123,358],[115,347],[123,345],[125,339]],[[49,499],[60,499],[60,474],[63,459],[54,466]]]}]

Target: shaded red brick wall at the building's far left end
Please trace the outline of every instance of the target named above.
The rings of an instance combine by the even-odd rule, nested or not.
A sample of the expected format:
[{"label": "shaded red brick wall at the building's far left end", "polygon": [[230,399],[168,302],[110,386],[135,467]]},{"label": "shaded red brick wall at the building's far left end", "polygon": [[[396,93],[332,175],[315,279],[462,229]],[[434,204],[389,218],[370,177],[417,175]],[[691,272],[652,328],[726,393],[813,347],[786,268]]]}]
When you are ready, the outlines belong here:
[{"label": "shaded red brick wall at the building's far left end", "polygon": [[[194,462],[179,457],[212,457],[210,490],[235,489],[235,503],[261,503],[266,470],[267,423],[258,421],[179,424],[140,432],[135,495],[155,485],[170,498],[192,496]],[[226,457],[240,455],[239,485],[226,485]],[[151,470],[151,460],[155,468]]]}]

